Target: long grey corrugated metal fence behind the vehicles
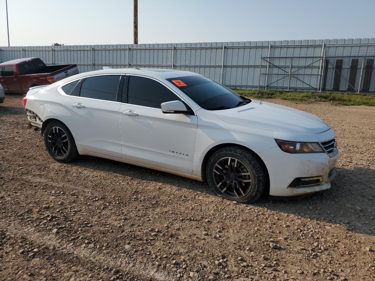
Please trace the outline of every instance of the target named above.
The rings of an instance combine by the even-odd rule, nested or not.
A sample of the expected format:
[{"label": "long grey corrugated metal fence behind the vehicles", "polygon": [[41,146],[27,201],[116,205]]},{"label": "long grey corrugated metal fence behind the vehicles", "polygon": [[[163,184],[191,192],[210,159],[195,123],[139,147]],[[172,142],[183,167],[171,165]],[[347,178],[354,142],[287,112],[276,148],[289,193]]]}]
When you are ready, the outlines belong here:
[{"label": "long grey corrugated metal fence behind the vehicles", "polygon": [[[354,74],[360,76],[361,63],[367,67],[369,62],[374,62],[367,58],[375,57],[375,38],[0,48],[2,62],[39,57],[46,64],[76,63],[80,72],[103,66],[156,67],[201,73],[234,88],[342,91],[350,88],[357,91],[363,87],[360,77],[354,79],[353,87],[348,87],[346,82],[353,68],[352,59],[348,60],[348,65],[341,66],[340,71],[335,68],[335,57],[344,56],[362,58],[359,64],[357,61],[358,71]],[[343,79],[333,78],[336,72]],[[341,72],[348,72],[348,77]],[[324,73],[328,75],[325,79]],[[367,75],[368,91],[375,90],[374,75],[372,70]]]}]

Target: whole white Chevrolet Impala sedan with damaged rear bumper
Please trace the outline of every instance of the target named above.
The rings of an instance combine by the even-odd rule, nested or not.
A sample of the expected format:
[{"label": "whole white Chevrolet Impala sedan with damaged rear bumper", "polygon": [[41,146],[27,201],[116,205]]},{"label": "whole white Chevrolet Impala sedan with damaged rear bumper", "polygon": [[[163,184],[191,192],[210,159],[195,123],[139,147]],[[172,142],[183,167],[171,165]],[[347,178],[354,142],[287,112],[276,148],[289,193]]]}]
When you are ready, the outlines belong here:
[{"label": "whole white Chevrolet Impala sedan with damaged rear bumper", "polygon": [[193,72],[85,72],[30,88],[23,102],[60,162],[94,155],[207,179],[239,202],[325,190],[336,175],[336,135],[320,118]]}]

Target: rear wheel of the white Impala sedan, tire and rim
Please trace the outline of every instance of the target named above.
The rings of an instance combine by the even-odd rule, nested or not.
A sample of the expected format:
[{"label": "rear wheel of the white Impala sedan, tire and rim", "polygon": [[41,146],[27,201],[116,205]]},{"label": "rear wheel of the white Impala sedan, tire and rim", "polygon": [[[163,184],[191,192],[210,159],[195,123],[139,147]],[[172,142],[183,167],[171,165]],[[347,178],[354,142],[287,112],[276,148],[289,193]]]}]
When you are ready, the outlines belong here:
[{"label": "rear wheel of the white Impala sedan, tire and rim", "polygon": [[80,156],[72,133],[60,121],[54,120],[47,124],[44,130],[44,144],[49,155],[58,162],[68,163]]}]

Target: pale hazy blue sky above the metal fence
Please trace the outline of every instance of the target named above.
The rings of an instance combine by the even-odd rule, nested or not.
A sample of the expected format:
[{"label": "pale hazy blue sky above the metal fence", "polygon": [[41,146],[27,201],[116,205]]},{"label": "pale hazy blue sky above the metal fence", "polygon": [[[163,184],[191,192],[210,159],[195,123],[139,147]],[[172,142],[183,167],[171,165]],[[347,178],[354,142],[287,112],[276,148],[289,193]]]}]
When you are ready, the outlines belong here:
[{"label": "pale hazy blue sky above the metal fence", "polygon": [[[138,0],[138,43],[375,37],[374,11],[374,0]],[[133,0],[8,0],[8,16],[10,46],[133,43]]]}]

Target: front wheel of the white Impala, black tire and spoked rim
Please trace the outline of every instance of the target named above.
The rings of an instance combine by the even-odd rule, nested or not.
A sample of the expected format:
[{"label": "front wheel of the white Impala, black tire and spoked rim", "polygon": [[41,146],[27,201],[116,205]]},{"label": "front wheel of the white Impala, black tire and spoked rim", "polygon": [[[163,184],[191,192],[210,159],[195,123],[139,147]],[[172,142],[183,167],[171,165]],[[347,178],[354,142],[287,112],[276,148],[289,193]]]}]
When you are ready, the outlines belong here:
[{"label": "front wheel of the white Impala, black tire and spoked rim", "polygon": [[225,199],[254,203],[265,191],[263,165],[245,148],[218,149],[208,159],[206,176],[210,187]]}]

